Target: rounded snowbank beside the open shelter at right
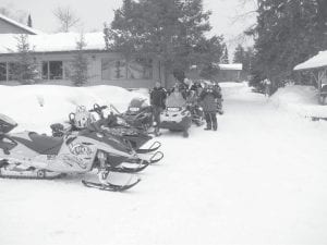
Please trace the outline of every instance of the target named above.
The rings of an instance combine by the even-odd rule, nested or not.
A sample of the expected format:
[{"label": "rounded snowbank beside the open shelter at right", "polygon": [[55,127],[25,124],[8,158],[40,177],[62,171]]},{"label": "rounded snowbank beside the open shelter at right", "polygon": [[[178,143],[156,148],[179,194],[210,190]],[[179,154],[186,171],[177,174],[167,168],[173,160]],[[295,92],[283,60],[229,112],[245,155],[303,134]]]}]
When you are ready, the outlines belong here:
[{"label": "rounded snowbank beside the open shelter at right", "polygon": [[270,97],[270,102],[288,112],[301,117],[327,118],[327,107],[317,103],[317,90],[313,86],[289,85],[279,88]]}]

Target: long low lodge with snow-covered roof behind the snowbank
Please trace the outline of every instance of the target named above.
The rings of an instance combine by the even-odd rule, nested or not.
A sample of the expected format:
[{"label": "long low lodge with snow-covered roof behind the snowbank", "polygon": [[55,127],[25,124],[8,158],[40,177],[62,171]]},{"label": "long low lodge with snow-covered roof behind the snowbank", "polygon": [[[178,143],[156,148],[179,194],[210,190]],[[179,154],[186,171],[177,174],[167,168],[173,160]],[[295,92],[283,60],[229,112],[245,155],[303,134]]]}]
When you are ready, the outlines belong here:
[{"label": "long low lodge with snow-covered roof behind the snowbank", "polygon": [[[71,63],[76,53],[78,33],[45,34],[0,14],[0,85],[17,85],[13,68],[19,59],[17,36],[28,35],[28,44],[33,49],[33,59],[37,66],[38,83],[72,85],[70,81]],[[156,82],[165,87],[172,87],[175,79],[165,73],[165,66],[155,59],[126,61],[117,52],[105,49],[104,33],[85,33],[84,56],[87,59],[86,86],[114,85],[125,88],[150,88]],[[227,70],[230,70],[229,68]],[[227,71],[230,72],[230,71]],[[239,70],[231,77],[237,82]],[[223,74],[226,72],[222,72]],[[233,71],[231,72],[233,73]]]}]

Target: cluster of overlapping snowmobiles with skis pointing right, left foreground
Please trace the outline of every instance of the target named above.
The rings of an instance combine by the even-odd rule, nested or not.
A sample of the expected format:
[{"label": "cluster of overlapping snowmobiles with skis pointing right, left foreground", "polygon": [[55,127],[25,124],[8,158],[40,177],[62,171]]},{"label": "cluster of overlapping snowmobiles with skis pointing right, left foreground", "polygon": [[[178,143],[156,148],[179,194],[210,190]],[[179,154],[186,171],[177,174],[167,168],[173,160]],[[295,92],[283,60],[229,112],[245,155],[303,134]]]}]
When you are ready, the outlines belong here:
[{"label": "cluster of overlapping snowmobiles with skis pointing right, left foreground", "polygon": [[[164,158],[157,151],[160,143],[141,148],[152,137],[128,123],[116,122],[110,115],[105,119],[104,109],[95,105],[89,112],[78,107],[69,117],[69,128],[51,125],[52,136],[35,132],[10,134],[17,124],[0,114],[0,177],[55,179],[97,170],[99,182],[83,181],[85,186],[125,191],[136,185],[141,180],[134,173]],[[95,121],[92,112],[101,115],[100,119]],[[150,152],[154,154],[148,156]],[[117,185],[110,182],[109,172],[128,173],[131,177],[126,184]]]}]

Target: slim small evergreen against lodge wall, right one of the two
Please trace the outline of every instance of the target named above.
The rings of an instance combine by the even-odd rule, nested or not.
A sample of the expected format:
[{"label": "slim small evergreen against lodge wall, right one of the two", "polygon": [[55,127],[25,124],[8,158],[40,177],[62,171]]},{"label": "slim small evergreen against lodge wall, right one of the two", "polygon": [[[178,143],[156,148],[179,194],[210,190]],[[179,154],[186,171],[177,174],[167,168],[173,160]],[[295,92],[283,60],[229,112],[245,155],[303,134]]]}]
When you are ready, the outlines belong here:
[{"label": "slim small evergreen against lodge wall, right one of the two", "polygon": [[84,35],[81,34],[80,40],[76,41],[76,52],[73,61],[71,62],[71,71],[69,75],[75,86],[83,86],[88,79],[88,60],[84,53],[86,45]]}]

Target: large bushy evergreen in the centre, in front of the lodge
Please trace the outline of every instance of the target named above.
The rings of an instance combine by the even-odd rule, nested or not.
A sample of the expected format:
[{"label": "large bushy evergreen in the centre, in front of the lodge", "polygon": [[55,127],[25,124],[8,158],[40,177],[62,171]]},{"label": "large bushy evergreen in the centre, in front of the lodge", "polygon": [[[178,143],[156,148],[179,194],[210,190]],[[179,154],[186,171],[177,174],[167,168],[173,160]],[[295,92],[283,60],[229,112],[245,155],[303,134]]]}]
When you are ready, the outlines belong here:
[{"label": "large bushy evergreen in the centre, in front of the lodge", "polygon": [[170,73],[203,66],[205,60],[219,62],[221,51],[214,50],[221,49],[221,37],[205,35],[211,28],[209,15],[202,0],[124,0],[111,28],[105,28],[106,45],[126,59],[157,59]]}]

